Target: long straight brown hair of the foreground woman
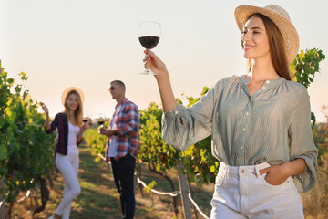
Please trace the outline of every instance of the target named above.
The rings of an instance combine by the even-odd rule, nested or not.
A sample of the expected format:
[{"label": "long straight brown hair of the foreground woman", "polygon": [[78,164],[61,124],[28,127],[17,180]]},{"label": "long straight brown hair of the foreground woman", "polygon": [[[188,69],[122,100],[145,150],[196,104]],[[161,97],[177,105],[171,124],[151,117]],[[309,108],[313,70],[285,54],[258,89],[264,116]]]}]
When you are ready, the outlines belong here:
[{"label": "long straight brown hair of the foreground woman", "polygon": [[[291,71],[289,69],[289,65],[287,63],[287,57],[284,50],[282,33],[269,17],[263,16],[259,13],[252,14],[251,16],[259,17],[264,23],[267,36],[269,39],[272,64],[275,71],[278,73],[279,76],[285,78],[286,80],[292,80]],[[249,20],[251,16],[247,20]],[[251,58],[248,58],[247,72],[249,73],[250,71],[251,71]]]}]

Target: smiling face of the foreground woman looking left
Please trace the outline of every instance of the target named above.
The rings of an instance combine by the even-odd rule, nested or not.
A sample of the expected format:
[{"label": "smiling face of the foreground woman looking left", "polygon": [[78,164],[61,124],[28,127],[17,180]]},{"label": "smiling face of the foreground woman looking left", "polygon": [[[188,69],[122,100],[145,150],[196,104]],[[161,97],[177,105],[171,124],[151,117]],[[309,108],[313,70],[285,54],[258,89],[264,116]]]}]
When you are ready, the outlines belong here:
[{"label": "smiling face of the foreground woman looking left", "polygon": [[271,58],[268,35],[260,17],[251,16],[246,22],[241,36],[241,47],[245,58]]}]

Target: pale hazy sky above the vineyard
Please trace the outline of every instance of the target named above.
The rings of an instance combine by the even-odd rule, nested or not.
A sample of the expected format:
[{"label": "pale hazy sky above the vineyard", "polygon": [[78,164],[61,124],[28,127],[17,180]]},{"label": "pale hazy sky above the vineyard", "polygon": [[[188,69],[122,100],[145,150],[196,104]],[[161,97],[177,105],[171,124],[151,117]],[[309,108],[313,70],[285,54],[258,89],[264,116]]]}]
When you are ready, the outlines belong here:
[{"label": "pale hazy sky above the vineyard", "polygon": [[[116,102],[109,83],[119,79],[126,97],[146,109],[160,103],[153,76],[143,70],[144,48],[138,23],[161,24],[153,51],[165,62],[174,94],[199,97],[204,86],[245,74],[241,33],[234,20],[238,5],[282,6],[300,36],[300,50],[319,48],[328,55],[326,0],[0,0],[0,59],[9,77],[33,99],[43,101],[54,116],[63,110],[61,94],[78,87],[85,94],[88,117],[111,117]],[[320,64],[308,92],[317,120],[328,105],[328,57]]]}]

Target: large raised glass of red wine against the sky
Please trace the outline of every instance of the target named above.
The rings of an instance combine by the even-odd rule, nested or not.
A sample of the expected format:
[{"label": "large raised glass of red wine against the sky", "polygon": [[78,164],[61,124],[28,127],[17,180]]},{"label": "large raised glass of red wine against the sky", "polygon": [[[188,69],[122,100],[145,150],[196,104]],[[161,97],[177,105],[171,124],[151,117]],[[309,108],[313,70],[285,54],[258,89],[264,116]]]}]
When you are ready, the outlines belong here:
[{"label": "large raised glass of red wine against the sky", "polygon": [[[154,21],[144,21],[138,24],[138,39],[142,47],[149,50],[156,47],[159,44],[160,37],[160,24]],[[148,54],[147,54],[148,55]],[[147,63],[149,59],[147,56],[144,58],[144,64]],[[156,75],[156,73],[152,72],[149,68],[146,68],[140,74],[144,75]]]}]

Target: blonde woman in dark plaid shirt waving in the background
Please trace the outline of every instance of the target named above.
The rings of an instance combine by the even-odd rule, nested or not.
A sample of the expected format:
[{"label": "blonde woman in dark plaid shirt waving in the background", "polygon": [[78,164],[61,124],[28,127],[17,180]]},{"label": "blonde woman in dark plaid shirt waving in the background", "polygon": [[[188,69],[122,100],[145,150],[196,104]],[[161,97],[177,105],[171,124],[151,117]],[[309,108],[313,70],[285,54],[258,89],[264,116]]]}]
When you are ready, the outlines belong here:
[{"label": "blonde woman in dark plaid shirt waving in the background", "polygon": [[77,180],[78,149],[77,145],[82,141],[82,134],[87,130],[87,124],[83,124],[84,95],[80,89],[68,88],[62,94],[64,112],[56,114],[50,123],[49,110],[41,102],[42,110],[46,112],[46,133],[57,130],[56,140],[56,167],[62,173],[65,180],[64,197],[56,209],[56,214],[49,218],[69,218],[71,203],[81,193],[81,187]]}]

